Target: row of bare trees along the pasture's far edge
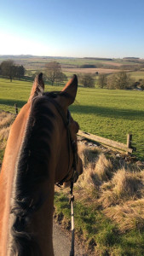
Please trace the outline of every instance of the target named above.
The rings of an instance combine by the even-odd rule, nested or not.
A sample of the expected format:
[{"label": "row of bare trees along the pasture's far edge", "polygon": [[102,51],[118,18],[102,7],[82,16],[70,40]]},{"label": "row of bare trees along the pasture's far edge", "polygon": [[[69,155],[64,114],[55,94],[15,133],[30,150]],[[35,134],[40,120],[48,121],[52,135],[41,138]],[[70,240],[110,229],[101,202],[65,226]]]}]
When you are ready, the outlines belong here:
[{"label": "row of bare trees along the pasture's far edge", "polygon": [[[26,71],[25,67],[22,65],[15,65],[14,61],[8,60],[3,61],[0,65],[0,75],[5,78],[9,78],[10,81],[14,78],[21,79],[21,78],[34,78],[36,73],[32,73],[31,71]],[[27,74],[27,76],[25,76]],[[65,73],[62,73],[62,68],[59,62],[57,61],[50,61],[45,65],[45,69],[43,70],[45,80],[51,84],[61,84],[66,82],[67,77]],[[98,73],[95,73],[98,75]],[[84,87],[95,88],[95,74],[85,73],[85,74],[78,74],[78,82],[79,84],[83,85]],[[134,79],[131,79],[129,73],[120,72],[111,75],[107,74],[99,74],[97,84],[100,88],[107,88],[107,89],[136,89],[141,88],[144,90],[144,79],[140,79],[139,81],[135,82]]]}]

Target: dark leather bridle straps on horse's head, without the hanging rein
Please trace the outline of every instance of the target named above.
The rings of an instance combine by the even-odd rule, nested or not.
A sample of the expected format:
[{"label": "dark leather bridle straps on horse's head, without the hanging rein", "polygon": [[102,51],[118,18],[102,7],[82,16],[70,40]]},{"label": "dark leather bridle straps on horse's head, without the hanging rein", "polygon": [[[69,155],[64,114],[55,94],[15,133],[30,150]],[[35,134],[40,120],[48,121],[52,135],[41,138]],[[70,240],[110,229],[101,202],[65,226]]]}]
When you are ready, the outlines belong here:
[{"label": "dark leather bridle straps on horse's head, without the hanging rein", "polygon": [[[55,102],[55,100],[53,100],[53,98],[49,98],[49,102],[51,102],[57,112],[60,114],[61,119],[63,120],[63,123],[66,127],[66,133],[67,133],[67,138],[68,138],[68,154],[69,154],[69,163],[68,163],[68,172],[66,174],[66,177],[64,177],[59,183],[55,183],[57,186],[61,186],[63,185],[63,183],[65,182],[69,182],[71,181],[71,183],[75,183],[78,180],[78,171],[77,171],[77,164],[78,164],[78,148],[77,148],[77,142],[75,142],[74,140],[72,140],[72,136],[71,136],[71,131],[69,129],[69,125],[70,125],[70,112],[69,110],[67,111],[67,117],[66,114],[63,110],[63,108],[60,107],[60,104],[58,102]],[[72,176],[70,177],[70,151],[72,148],[72,154],[73,154],[73,162],[72,162],[72,168],[73,168],[73,172],[72,172]],[[69,178],[70,177],[70,178]]]}]

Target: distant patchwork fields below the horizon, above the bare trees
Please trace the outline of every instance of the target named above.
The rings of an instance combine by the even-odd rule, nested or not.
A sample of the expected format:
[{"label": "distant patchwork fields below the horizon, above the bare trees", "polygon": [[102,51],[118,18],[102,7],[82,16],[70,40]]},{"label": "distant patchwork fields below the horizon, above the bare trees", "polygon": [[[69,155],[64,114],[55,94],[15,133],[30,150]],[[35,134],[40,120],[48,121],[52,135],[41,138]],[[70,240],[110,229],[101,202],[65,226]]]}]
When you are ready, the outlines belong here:
[{"label": "distant patchwork fields below the horizon, above the bare trees", "polygon": [[[60,63],[62,67],[62,72],[66,74],[67,78],[69,79],[73,73],[93,73],[95,74],[98,72],[111,74],[111,73],[118,73],[121,71],[121,67],[125,66],[125,72],[133,70],[132,67],[137,65],[136,67],[139,67],[140,61],[131,62],[129,60],[124,59],[112,59],[111,61],[108,59],[98,59],[98,58],[64,58],[64,57],[38,57],[38,56],[0,56],[0,63],[6,59],[13,59],[15,64],[23,65],[27,71],[31,71],[32,73],[44,72],[45,65],[49,61],[57,61]],[[142,61],[142,60],[141,60]],[[81,68],[81,66],[84,65],[95,65],[96,68]],[[131,67],[131,68],[130,68]],[[140,72],[130,72],[130,75],[132,76],[135,81],[138,79],[144,79],[144,71]],[[95,75],[95,80],[98,79],[98,77]],[[95,83],[96,85],[96,83]]]}]

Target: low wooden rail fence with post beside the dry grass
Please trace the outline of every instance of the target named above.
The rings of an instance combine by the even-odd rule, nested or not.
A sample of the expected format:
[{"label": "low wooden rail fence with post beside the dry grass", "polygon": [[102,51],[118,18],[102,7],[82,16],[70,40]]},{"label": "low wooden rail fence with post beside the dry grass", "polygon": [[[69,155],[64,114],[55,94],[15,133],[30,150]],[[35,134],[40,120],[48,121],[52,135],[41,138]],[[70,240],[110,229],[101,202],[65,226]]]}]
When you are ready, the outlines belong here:
[{"label": "low wooden rail fence with post beside the dry grass", "polygon": [[110,139],[104,138],[104,137],[99,137],[94,134],[90,134],[88,132],[84,131],[78,131],[78,136],[84,137],[90,141],[96,142],[96,143],[101,143],[103,145],[106,145],[108,148],[112,148],[113,150],[118,150],[122,153],[126,154],[132,154],[133,151],[136,151],[136,148],[132,147],[132,134],[127,135],[127,143],[118,143],[115,141],[112,141]]}]

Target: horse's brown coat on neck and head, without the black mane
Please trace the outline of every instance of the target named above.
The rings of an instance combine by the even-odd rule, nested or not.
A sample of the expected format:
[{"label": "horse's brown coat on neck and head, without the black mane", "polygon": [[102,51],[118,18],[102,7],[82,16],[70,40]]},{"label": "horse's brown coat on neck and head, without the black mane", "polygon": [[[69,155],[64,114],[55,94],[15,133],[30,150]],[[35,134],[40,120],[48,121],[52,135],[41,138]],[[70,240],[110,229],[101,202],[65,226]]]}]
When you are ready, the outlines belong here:
[{"label": "horse's brown coat on neck and head, without the black mane", "polygon": [[[67,151],[66,127],[63,124],[63,120],[61,119],[60,114],[57,112],[54,105],[50,103],[49,100],[48,100],[48,103],[47,102],[43,103],[43,101],[45,101],[45,96],[42,96],[43,88],[44,88],[44,84],[43,84],[42,74],[40,74],[33,84],[29,101],[21,109],[9,133],[9,140],[5,150],[2,172],[0,175],[0,255],[2,256],[26,255],[25,253],[26,247],[24,247],[22,243],[20,245],[20,249],[17,247],[18,243],[17,241],[15,241],[15,236],[13,235],[13,232],[12,232],[12,229],[14,229],[14,219],[20,218],[19,216],[16,217],[16,213],[14,215],[13,210],[14,210],[15,198],[18,193],[17,188],[19,187],[17,179],[19,178],[19,175],[20,175],[19,173],[19,166],[20,166],[20,160],[21,160],[20,154],[23,150],[23,147],[26,141],[26,134],[27,134],[26,130],[29,129],[29,126],[27,126],[27,124],[29,123],[29,119],[33,111],[32,109],[35,109],[34,108],[35,106],[37,108],[37,102],[40,102],[40,104],[42,102],[42,105],[45,104],[44,108],[46,109],[48,108],[49,111],[53,112],[55,118],[51,119],[50,121],[53,127],[53,129],[51,129],[52,131],[51,131],[51,136],[49,140],[50,156],[49,156],[49,152],[48,152],[48,158],[46,158],[47,152],[44,153],[46,155],[43,156],[43,158],[45,157],[45,159],[48,159],[47,160],[48,170],[46,170],[48,178],[45,178],[43,182],[37,183],[36,185],[32,186],[33,188],[32,195],[31,195],[32,204],[34,204],[34,202],[37,201],[37,198],[40,195],[40,193],[44,195],[44,199],[43,199],[42,205],[32,213],[32,216],[30,218],[31,221],[26,225],[26,230],[23,230],[23,231],[27,232],[27,234],[30,233],[30,236],[31,234],[34,234],[34,238],[31,238],[31,239],[34,239],[34,242],[37,244],[37,248],[40,252],[40,255],[42,256],[54,255],[53,245],[52,245],[52,223],[53,223],[55,182],[60,182],[60,180],[66,177],[67,171],[69,172],[71,171],[71,170],[68,170],[68,167],[70,166],[72,168],[73,155],[72,155],[72,148],[71,148],[70,160],[68,160],[69,153]],[[73,79],[71,79],[63,89],[63,92],[66,92],[66,94],[68,94],[69,96],[66,97],[63,94],[61,96],[58,95],[55,98],[55,101],[60,104],[61,108],[63,108],[64,113],[67,113],[68,106],[72,104],[72,102],[74,102],[75,96],[77,94],[77,88],[78,88],[78,80],[77,80],[77,77],[74,76]],[[34,107],[32,107],[32,104],[35,104],[33,105]],[[71,131],[72,139],[77,140],[76,133],[78,132],[78,124],[74,122],[72,118],[70,122],[70,131]],[[40,138],[39,138],[39,141],[40,141]],[[37,136],[35,137],[35,139],[36,141],[38,141]],[[48,138],[46,138],[46,140],[48,140]],[[42,145],[43,145],[43,142],[42,142]],[[31,153],[35,154],[34,152],[35,151]],[[33,169],[35,170],[33,169],[32,170],[33,172],[36,172],[36,173],[38,171],[41,172],[41,170],[38,169],[39,166],[37,165],[38,163],[37,157],[35,155],[34,157],[36,162],[35,163],[32,162],[32,166],[33,166]],[[29,156],[29,159],[31,160],[31,154]],[[42,163],[42,168],[43,168],[43,163]],[[82,172],[82,163],[79,157],[78,157],[78,172],[79,174]],[[22,184],[21,186],[23,187],[23,185],[25,188],[26,184]],[[12,213],[10,213],[11,210],[13,211]],[[30,243],[30,247],[31,245],[32,243]],[[27,248],[28,246],[29,245],[27,241]],[[13,251],[13,247],[15,251]],[[29,255],[36,255],[36,253],[37,255],[39,255],[38,250],[36,252],[34,251],[34,248],[33,248],[33,251],[32,251],[32,247],[31,247],[31,254],[29,251]]]}]

